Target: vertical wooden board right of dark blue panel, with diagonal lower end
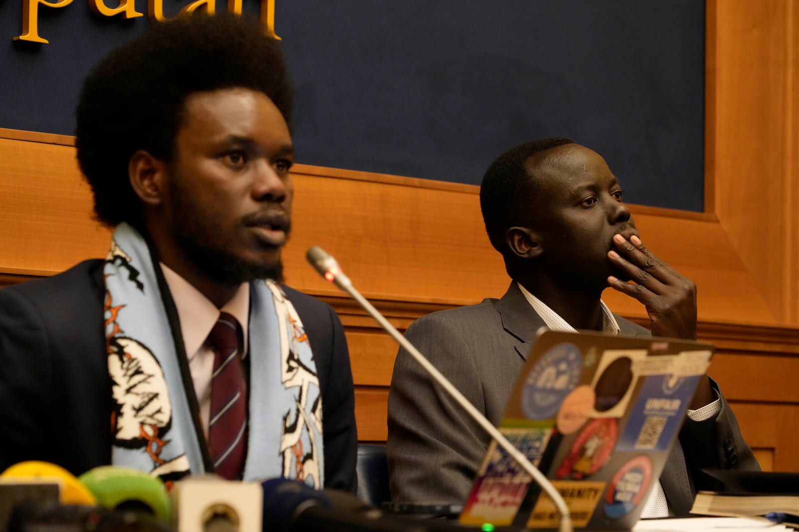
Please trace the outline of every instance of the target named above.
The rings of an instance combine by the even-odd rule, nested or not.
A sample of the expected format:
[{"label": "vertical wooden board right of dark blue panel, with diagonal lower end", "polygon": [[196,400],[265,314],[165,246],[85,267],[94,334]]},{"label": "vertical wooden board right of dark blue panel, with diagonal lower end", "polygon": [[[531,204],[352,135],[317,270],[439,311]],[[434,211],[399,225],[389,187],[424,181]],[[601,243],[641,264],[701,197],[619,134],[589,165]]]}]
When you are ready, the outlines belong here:
[{"label": "vertical wooden board right of dark blue panel, with diagonal lower end", "polygon": [[708,2],[714,213],[779,321],[797,323],[797,0]]}]

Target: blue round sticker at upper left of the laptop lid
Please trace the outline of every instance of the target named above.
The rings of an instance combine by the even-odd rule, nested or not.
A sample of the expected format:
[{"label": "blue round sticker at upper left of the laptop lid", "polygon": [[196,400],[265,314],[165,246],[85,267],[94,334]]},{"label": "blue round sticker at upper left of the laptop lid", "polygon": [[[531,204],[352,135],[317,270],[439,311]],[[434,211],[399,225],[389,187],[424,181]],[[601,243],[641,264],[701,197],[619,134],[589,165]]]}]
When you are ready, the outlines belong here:
[{"label": "blue round sticker at upper left of the laptop lid", "polygon": [[531,420],[548,420],[577,386],[582,355],[574,344],[562,342],[544,353],[527,373],[522,392],[522,412]]}]

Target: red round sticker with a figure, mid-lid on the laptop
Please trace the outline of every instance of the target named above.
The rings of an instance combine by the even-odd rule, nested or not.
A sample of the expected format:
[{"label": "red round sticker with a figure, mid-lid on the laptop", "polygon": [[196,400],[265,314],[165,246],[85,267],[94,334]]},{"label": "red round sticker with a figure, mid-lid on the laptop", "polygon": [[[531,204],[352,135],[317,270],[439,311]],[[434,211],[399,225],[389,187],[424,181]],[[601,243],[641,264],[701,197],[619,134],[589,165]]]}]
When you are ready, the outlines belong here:
[{"label": "red round sticker with a figure, mid-lid on the laptop", "polygon": [[558,469],[558,479],[585,479],[605,465],[616,446],[618,425],[612,417],[591,420],[574,440]]}]

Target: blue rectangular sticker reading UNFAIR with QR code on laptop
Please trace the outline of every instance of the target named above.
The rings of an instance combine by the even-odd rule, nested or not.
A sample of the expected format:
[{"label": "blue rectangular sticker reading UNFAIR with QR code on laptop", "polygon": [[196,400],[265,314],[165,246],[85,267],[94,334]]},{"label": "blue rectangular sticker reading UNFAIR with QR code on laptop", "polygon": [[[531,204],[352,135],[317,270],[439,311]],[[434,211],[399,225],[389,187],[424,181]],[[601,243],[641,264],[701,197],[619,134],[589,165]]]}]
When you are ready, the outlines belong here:
[{"label": "blue rectangular sticker reading UNFAIR with QR code on laptop", "polygon": [[700,375],[653,375],[644,379],[630,419],[618,439],[619,451],[666,451]]}]

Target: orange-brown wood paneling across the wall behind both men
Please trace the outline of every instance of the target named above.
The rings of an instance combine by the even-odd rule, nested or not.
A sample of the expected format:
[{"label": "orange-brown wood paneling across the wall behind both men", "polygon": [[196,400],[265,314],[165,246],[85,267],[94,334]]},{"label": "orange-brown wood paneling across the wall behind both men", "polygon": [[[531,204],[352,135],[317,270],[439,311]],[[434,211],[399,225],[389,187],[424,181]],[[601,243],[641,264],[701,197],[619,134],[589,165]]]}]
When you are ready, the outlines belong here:
[{"label": "orange-brown wood paneling across the wall behind both men", "polygon": [[[699,288],[711,373],[765,468],[799,471],[799,0],[707,2],[706,212],[632,206],[644,242]],[[0,286],[101,257],[72,139],[0,129]],[[477,187],[297,164],[288,283],[328,301],[352,351],[360,439],[386,437],[396,345],[306,265],[339,259],[399,329],[507,288]],[[609,305],[646,324],[642,305]]]}]

